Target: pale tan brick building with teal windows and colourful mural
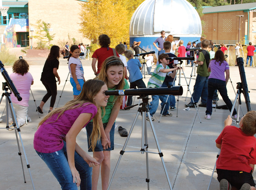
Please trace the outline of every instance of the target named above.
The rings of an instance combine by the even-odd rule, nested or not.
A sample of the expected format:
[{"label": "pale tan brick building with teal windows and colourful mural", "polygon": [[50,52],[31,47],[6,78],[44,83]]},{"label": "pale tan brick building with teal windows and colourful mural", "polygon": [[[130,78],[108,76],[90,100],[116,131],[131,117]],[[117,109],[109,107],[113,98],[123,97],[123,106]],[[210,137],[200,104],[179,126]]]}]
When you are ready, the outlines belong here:
[{"label": "pale tan brick building with teal windows and colourful mural", "polygon": [[[70,39],[91,44],[79,32],[80,4],[85,2],[86,0],[3,0],[3,6],[10,8],[6,17],[0,16],[1,44],[6,48],[31,46],[31,39],[28,38],[32,36],[31,29],[34,29],[35,35],[35,27],[31,24],[36,24],[39,19],[51,24],[50,35],[55,34],[51,44],[68,41],[68,35]],[[33,39],[33,47],[37,46],[36,42]]]}]

